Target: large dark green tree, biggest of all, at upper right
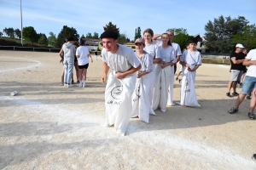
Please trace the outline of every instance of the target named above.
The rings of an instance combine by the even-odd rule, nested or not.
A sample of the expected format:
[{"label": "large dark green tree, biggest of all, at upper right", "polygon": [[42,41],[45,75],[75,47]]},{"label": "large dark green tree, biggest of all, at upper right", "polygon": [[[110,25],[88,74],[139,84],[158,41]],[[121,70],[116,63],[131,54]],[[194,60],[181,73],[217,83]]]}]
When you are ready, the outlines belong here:
[{"label": "large dark green tree, biggest of all, at upper right", "polygon": [[236,19],[231,19],[231,17],[224,17],[220,15],[218,19],[213,21],[209,20],[205,26],[205,39],[204,44],[212,51],[229,53],[233,46],[232,37],[234,37],[238,32],[241,32],[244,27],[248,24],[243,16],[238,16]]}]

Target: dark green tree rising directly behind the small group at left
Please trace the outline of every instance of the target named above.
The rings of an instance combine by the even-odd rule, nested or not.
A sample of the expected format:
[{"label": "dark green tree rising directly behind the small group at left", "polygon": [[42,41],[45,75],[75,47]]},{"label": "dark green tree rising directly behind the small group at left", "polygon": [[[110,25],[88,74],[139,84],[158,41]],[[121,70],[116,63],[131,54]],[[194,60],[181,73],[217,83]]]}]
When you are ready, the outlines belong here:
[{"label": "dark green tree rising directly behind the small group at left", "polygon": [[78,31],[73,27],[63,26],[61,32],[58,34],[56,47],[61,48],[63,40],[67,37],[73,37],[75,40],[79,39]]}]

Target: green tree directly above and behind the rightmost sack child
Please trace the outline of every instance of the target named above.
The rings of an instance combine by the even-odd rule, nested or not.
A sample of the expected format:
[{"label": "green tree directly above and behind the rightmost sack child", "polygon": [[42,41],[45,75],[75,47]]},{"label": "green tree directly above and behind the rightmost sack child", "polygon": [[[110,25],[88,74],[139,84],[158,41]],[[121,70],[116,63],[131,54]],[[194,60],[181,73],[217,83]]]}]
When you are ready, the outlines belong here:
[{"label": "green tree directly above and behind the rightmost sack child", "polygon": [[187,29],[184,28],[172,28],[167,31],[172,31],[174,33],[173,42],[178,43],[181,49],[186,48],[189,40],[193,37],[189,36]]}]

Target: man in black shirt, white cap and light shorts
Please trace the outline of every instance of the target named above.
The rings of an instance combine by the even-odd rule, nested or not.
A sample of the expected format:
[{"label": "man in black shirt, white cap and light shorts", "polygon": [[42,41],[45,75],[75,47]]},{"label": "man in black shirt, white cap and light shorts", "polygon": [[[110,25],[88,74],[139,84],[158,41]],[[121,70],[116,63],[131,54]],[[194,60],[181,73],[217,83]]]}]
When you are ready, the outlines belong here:
[{"label": "man in black shirt, white cap and light shorts", "polygon": [[227,96],[231,97],[230,89],[233,88],[233,95],[238,96],[239,94],[236,93],[236,84],[237,81],[241,79],[241,75],[244,71],[244,65],[242,62],[244,60],[244,54],[241,53],[242,48],[244,48],[241,43],[236,44],[236,51],[230,54],[230,63],[231,63],[231,77],[230,82],[228,84],[228,92],[226,93]]}]

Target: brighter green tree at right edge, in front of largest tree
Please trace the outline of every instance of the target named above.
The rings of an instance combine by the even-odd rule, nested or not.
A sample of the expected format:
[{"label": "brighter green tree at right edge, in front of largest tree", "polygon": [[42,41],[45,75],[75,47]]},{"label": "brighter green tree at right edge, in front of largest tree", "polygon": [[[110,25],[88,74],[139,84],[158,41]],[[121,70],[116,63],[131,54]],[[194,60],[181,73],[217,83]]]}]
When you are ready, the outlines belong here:
[{"label": "brighter green tree at right edge, in front of largest tree", "polygon": [[232,43],[241,43],[245,48],[252,49],[256,47],[256,26],[255,24],[245,26],[241,31],[232,37]]}]

